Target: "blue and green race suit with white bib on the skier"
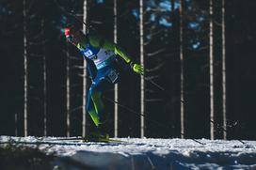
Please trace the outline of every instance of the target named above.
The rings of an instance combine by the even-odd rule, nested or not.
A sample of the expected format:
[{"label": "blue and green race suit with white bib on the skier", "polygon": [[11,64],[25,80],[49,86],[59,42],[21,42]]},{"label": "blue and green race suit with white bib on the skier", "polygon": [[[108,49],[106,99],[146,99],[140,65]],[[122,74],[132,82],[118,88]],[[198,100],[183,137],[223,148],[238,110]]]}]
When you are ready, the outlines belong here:
[{"label": "blue and green race suit with white bib on the skier", "polygon": [[131,59],[117,44],[97,36],[87,36],[76,47],[88,61],[92,85],[88,91],[87,111],[98,127],[104,121],[103,114],[106,112],[102,99],[105,85],[119,81],[117,57],[120,56],[126,63],[131,63]]}]

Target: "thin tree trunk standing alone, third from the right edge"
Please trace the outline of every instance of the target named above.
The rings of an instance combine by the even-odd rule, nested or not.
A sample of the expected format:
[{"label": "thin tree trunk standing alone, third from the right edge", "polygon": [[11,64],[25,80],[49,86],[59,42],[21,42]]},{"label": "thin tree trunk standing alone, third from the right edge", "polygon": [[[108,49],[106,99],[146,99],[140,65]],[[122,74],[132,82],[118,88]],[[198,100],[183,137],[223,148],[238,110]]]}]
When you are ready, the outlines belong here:
[{"label": "thin tree trunk standing alone, third from the right edge", "polygon": [[184,138],[184,21],[183,0],[180,0],[180,62],[181,62],[181,138]]}]

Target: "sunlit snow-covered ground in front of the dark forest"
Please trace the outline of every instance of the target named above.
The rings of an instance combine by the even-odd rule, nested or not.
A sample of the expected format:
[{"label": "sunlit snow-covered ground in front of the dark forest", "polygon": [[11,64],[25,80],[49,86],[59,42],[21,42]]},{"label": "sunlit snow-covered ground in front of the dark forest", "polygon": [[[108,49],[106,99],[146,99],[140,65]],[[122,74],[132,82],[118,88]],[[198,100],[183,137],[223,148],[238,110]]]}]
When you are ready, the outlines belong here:
[{"label": "sunlit snow-covered ground in front of the dark forest", "polygon": [[[64,139],[0,136],[0,145],[11,142],[56,153],[56,167],[72,162],[91,169],[256,169],[256,141],[118,138],[123,142],[83,143]],[[71,164],[65,168],[75,169]]]}]

